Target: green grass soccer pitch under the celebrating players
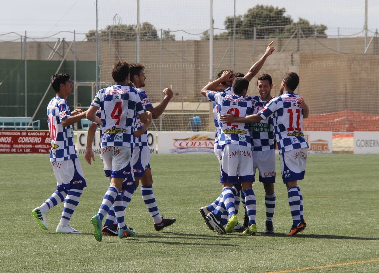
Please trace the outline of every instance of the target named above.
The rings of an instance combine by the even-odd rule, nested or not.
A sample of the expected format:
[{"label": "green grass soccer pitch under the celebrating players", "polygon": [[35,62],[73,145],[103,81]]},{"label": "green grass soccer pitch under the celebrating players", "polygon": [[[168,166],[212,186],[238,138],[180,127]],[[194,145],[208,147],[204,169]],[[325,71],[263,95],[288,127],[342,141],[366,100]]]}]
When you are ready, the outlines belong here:
[{"label": "green grass soccer pitch under the celebrating players", "polygon": [[[70,224],[84,234],[69,235],[55,233],[63,204],[47,213],[48,231],[31,215],[55,190],[48,155],[0,155],[0,271],[379,271],[379,155],[309,155],[305,179],[299,182],[307,228],[294,237],[285,236],[292,222],[280,176],[275,184],[273,236],[264,234],[260,182],[253,187],[258,233],[219,235],[199,214],[199,208],[221,191],[215,156],[153,155],[159,211],[175,217],[176,223],[156,232],[139,187],[125,211],[136,236],[103,236],[102,242],[92,236],[90,223],[107,188],[102,162],[98,155],[91,166],[83,155],[79,158],[88,186]],[[323,267],[327,265],[334,266]],[[309,267],[315,268],[304,269]]]}]

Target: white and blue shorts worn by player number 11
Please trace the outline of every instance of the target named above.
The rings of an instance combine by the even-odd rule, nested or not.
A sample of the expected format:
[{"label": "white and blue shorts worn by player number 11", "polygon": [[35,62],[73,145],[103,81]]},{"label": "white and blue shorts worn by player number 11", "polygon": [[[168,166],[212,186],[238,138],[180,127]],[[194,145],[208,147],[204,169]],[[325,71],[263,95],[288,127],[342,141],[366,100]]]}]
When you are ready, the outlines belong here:
[{"label": "white and blue shorts worn by player number 11", "polygon": [[304,179],[307,150],[308,148],[300,148],[280,154],[279,162],[283,183]]}]

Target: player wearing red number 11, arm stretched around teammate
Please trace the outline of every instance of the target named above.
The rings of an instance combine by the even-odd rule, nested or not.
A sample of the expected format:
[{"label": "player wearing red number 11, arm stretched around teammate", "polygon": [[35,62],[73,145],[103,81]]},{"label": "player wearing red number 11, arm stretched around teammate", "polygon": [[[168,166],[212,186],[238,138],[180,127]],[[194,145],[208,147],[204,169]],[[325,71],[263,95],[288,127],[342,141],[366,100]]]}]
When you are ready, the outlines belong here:
[{"label": "player wearing red number 11, arm stretched around teammate", "polygon": [[292,215],[292,226],[287,235],[292,236],[305,229],[303,198],[297,181],[304,179],[307,164],[308,143],[305,140],[302,120],[309,115],[309,108],[302,97],[294,93],[299,84],[295,72],[285,74],[280,90],[283,95],[271,99],[258,113],[235,117],[222,115],[223,123],[258,122],[273,118],[274,131],[279,149],[280,171],[287,186],[288,203]]}]

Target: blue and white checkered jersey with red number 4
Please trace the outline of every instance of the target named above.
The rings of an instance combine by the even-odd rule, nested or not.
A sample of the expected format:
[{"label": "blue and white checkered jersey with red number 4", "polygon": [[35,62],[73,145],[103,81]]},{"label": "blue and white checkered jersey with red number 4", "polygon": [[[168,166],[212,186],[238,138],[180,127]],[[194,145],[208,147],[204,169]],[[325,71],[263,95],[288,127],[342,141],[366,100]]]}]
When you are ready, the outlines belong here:
[{"label": "blue and white checkered jersey with red number 4", "polygon": [[134,147],[135,112],[146,112],[135,88],[115,84],[96,93],[91,106],[100,108],[101,146]]}]

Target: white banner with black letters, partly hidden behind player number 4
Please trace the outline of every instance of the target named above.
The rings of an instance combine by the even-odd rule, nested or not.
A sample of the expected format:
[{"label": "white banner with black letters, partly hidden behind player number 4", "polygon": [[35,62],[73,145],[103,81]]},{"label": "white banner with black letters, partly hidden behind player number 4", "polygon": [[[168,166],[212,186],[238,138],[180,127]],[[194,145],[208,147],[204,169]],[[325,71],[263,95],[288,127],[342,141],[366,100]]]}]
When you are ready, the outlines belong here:
[{"label": "white banner with black letters, partly hidden behind player number 4", "polygon": [[[86,146],[87,146],[87,135],[88,131],[75,131],[77,135],[77,152],[78,154],[85,154],[86,153]],[[147,143],[149,144],[149,150],[150,154],[156,154],[157,153],[157,132],[147,132]],[[92,143],[92,150],[94,154],[100,154],[100,130],[97,129],[95,133],[95,138]]]}]

